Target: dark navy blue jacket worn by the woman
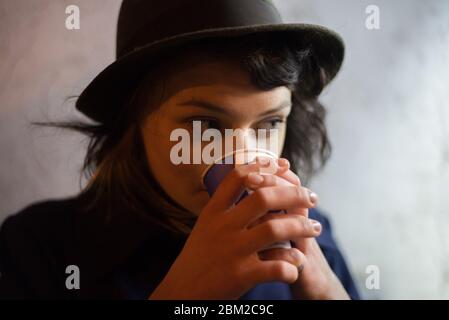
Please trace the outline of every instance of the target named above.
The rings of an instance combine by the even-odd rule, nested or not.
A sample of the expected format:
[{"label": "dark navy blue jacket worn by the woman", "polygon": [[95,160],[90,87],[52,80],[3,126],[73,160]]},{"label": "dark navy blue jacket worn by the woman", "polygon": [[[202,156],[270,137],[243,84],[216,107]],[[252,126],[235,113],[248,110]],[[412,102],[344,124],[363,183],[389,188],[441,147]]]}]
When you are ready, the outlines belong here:
[{"label": "dark navy blue jacket worn by the woman", "polygon": [[[0,298],[146,299],[163,279],[186,240],[128,212],[105,219],[81,211],[80,196],[46,200],[9,216],[0,228]],[[118,210],[120,211],[120,210]],[[357,290],[332,238],[329,221],[318,243],[352,298]],[[67,266],[80,270],[80,288],[66,287]],[[264,283],[244,299],[291,299],[288,284]]]}]

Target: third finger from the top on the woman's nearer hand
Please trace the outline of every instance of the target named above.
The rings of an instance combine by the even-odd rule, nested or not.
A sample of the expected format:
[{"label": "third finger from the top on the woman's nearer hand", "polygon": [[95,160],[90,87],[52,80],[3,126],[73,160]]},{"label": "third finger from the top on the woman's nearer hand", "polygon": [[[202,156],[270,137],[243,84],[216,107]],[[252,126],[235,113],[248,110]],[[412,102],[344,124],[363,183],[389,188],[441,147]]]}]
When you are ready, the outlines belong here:
[{"label": "third finger from the top on the woman's nearer hand", "polygon": [[280,214],[274,219],[248,229],[245,237],[246,249],[250,252],[260,251],[279,241],[317,237],[321,234],[321,230],[321,223],[316,220],[299,215],[285,217]]}]

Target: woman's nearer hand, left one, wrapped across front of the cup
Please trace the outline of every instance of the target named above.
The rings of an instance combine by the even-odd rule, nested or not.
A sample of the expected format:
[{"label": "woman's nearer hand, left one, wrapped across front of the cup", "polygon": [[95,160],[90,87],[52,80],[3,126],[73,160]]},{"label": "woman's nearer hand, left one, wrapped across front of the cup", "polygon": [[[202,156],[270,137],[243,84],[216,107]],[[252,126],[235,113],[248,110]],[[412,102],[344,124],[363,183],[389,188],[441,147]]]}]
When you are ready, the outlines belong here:
[{"label": "woman's nearer hand, left one, wrapped across front of the cup", "polygon": [[[296,186],[272,186],[255,190],[234,205],[253,182],[249,173],[270,164],[243,165],[226,176],[150,299],[238,299],[259,283],[297,281],[297,260],[261,260],[258,251],[274,242],[316,236],[309,219],[291,216],[248,226],[270,210],[311,207],[309,198]],[[296,179],[280,166],[277,171]]]}]

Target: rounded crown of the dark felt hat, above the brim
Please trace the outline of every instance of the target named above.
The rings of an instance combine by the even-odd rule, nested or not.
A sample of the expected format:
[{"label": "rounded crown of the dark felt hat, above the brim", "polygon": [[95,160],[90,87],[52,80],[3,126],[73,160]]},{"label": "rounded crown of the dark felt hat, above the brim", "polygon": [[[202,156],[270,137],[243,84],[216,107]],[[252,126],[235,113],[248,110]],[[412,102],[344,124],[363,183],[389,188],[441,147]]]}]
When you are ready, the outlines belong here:
[{"label": "rounded crown of the dark felt hat, above the brim", "polygon": [[278,23],[282,18],[271,0],[124,0],[116,55],[195,31]]}]

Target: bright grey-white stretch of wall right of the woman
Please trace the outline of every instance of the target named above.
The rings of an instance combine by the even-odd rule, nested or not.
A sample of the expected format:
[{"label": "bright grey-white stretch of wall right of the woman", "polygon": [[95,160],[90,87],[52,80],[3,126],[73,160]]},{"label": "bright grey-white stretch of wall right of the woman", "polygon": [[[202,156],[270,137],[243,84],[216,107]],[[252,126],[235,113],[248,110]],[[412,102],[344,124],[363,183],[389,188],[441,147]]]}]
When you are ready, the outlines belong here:
[{"label": "bright grey-white stretch of wall right of the woman", "polygon": [[[449,2],[278,1],[345,39],[323,95],[332,160],[315,181],[366,297],[449,298]],[[365,28],[365,8],[380,29]]]}]

